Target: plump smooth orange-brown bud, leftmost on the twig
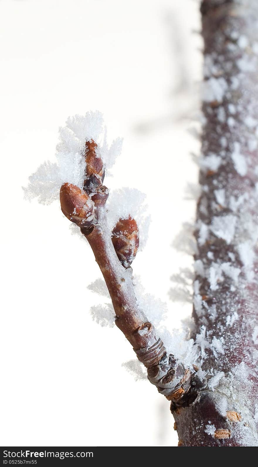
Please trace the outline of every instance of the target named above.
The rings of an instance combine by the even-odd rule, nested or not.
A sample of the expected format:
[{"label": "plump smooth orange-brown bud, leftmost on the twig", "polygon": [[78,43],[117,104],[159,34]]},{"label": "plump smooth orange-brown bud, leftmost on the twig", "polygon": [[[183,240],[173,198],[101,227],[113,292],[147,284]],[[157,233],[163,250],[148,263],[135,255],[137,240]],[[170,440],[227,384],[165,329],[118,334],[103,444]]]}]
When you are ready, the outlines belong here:
[{"label": "plump smooth orange-brown bud, leftmost on the twig", "polygon": [[94,203],[87,193],[76,185],[64,183],[61,186],[60,204],[63,214],[77,226],[92,225],[95,218]]}]

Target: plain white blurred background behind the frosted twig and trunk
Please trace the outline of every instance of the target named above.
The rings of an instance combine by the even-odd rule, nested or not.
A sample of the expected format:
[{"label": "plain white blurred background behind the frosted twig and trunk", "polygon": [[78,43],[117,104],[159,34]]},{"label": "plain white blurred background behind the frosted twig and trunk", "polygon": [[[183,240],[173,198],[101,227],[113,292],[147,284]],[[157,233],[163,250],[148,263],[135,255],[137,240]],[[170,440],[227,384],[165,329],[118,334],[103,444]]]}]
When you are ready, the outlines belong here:
[{"label": "plain white blurred background behind the frosted twig and trunk", "polygon": [[21,186],[55,160],[68,115],[103,112],[110,138],[124,137],[109,188],[144,191],[152,214],[134,273],[179,327],[191,305],[168,291],[191,263],[171,245],[195,213],[184,199],[199,151],[188,133],[202,62],[193,30],[193,0],[0,1],[2,446],[177,444],[169,402],[121,366],[134,357],[124,336],[91,319],[90,248],[58,203],[28,203]]}]

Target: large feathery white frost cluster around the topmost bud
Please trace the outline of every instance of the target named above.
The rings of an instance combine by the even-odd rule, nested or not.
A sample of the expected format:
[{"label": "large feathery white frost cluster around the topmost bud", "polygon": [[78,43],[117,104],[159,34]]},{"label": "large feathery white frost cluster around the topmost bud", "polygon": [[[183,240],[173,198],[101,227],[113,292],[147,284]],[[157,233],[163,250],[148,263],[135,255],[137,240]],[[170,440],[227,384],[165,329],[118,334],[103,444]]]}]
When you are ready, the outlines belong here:
[{"label": "large feathery white frost cluster around the topmost bud", "polygon": [[83,156],[86,140],[98,144],[98,152],[105,166],[112,167],[122,148],[122,140],[113,141],[109,148],[100,112],[87,112],[69,117],[66,126],[59,128],[59,143],[56,146],[56,162],[44,162],[29,177],[29,184],[23,188],[25,198],[38,198],[39,203],[50,204],[59,197],[60,187],[69,182],[83,188],[85,159]]}]

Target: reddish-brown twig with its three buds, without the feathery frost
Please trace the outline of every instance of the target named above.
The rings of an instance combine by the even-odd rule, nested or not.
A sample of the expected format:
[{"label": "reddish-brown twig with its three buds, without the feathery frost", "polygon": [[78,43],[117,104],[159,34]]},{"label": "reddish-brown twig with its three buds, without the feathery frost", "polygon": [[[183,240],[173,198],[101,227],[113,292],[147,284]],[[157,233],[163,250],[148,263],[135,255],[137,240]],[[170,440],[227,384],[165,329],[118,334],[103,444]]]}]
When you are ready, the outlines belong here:
[{"label": "reddish-brown twig with its three buds, without the feathery frost", "polygon": [[167,354],[135,296],[130,264],[139,246],[137,224],[130,216],[119,219],[111,233],[105,208],[109,193],[103,185],[104,164],[93,140],[85,142],[84,156],[84,187],[63,184],[61,209],[89,242],[112,299],[115,323],[147,368],[148,379],[175,406],[186,403],[189,393],[193,397],[191,372]]}]

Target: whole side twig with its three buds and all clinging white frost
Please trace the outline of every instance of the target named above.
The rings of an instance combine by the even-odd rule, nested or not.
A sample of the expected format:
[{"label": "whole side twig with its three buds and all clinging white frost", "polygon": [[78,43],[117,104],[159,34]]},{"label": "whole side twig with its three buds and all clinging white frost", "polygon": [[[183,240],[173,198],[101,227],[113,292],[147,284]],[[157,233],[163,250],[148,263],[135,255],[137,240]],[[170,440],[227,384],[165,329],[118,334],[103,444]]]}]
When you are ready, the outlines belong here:
[{"label": "whole side twig with its three buds and all clinging white frost", "polygon": [[[121,139],[108,148],[98,112],[69,118],[59,134],[57,162],[43,164],[30,177],[25,196],[49,204],[60,190],[63,214],[80,228],[105,279],[106,286],[97,280],[89,289],[112,300],[112,304],[92,306],[92,318],[100,325],[115,322],[146,367],[148,379],[168,400],[181,404],[188,393],[195,398],[195,370],[190,362],[195,353],[193,342],[185,347],[179,338],[171,344],[173,339],[162,324],[166,306],[146,294],[132,277],[130,265],[138,247],[146,242],[150,222],[145,195],[130,188],[114,191],[109,197],[103,184],[106,168],[112,167],[120,153]],[[180,361],[181,355],[186,357],[186,365]]]}]

